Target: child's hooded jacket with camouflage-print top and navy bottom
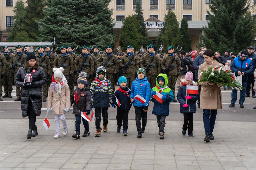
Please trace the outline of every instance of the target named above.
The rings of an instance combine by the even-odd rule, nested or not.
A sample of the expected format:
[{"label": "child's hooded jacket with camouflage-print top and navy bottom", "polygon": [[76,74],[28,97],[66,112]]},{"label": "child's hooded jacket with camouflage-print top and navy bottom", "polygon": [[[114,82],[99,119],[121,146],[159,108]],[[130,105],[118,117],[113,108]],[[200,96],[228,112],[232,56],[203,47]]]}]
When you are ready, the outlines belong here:
[{"label": "child's hooded jacket with camouflage-print top and navy bottom", "polygon": [[[109,103],[113,103],[113,90],[109,80],[106,79],[106,73],[102,81],[99,80],[98,72],[103,70],[106,72],[105,67],[98,67],[96,71],[96,78],[91,84],[90,94],[92,98],[92,105],[95,108],[110,107]],[[97,80],[97,81],[96,81]],[[100,84],[100,85],[99,85]]]}]

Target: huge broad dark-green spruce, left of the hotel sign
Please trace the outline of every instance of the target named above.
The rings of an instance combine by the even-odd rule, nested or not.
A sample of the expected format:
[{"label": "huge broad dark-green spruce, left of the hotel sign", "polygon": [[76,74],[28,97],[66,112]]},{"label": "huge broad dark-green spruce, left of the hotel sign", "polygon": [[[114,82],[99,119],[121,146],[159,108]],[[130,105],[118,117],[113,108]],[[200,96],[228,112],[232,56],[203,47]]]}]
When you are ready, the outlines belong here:
[{"label": "huge broad dark-green spruce, left of the hotel sign", "polygon": [[101,50],[113,44],[113,9],[111,0],[48,0],[43,9],[45,18],[39,24],[39,41],[58,45],[97,45]]}]

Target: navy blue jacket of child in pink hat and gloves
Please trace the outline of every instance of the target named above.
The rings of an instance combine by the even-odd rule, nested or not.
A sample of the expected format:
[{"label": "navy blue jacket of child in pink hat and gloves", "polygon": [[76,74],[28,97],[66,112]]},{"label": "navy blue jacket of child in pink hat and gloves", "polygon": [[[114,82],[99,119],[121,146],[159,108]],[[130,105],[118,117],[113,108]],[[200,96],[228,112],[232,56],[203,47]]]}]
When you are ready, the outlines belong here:
[{"label": "navy blue jacket of child in pink hat and gloves", "polygon": [[[185,80],[183,79],[182,82],[184,83]],[[192,84],[196,85],[196,84]],[[192,98],[186,99],[185,96],[189,95]],[[181,84],[178,93],[177,93],[177,100],[181,103],[180,110],[181,113],[195,113],[196,112],[196,101],[199,99],[199,94],[187,94],[187,86]],[[187,107],[183,107],[183,105],[187,102]]]}]

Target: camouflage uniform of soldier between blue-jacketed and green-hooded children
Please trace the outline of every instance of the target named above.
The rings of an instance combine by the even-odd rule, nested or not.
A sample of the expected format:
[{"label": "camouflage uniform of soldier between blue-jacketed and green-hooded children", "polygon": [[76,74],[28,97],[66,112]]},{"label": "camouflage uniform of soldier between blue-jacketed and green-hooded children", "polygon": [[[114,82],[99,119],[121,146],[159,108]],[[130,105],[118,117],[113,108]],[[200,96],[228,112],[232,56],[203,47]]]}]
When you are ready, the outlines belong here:
[{"label": "camouflage uniform of soldier between blue-jacketed and green-hooded children", "polygon": [[[146,69],[147,65],[149,64],[149,61],[151,60],[152,56],[149,52],[146,52],[141,58],[140,58],[140,67],[143,67]],[[153,88],[156,86],[156,78],[157,75],[161,73],[160,69],[160,59],[155,56],[153,61],[151,62],[151,70],[149,69],[149,72],[147,73],[147,79],[150,84],[150,88]]]}]

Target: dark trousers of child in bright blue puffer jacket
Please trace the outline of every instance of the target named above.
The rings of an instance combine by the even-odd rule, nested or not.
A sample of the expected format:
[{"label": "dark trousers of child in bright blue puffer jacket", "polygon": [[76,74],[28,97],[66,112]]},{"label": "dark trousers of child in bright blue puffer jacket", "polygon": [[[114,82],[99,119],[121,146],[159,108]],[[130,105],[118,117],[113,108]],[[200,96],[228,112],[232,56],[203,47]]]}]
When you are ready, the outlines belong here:
[{"label": "dark trousers of child in bright blue puffer jacket", "polygon": [[[147,112],[143,112],[143,109],[144,109],[144,106],[143,107],[134,106],[137,132],[141,132],[142,127],[146,127],[147,125]],[[142,122],[142,127],[140,124],[140,119]]]}]

